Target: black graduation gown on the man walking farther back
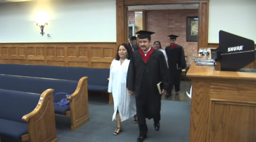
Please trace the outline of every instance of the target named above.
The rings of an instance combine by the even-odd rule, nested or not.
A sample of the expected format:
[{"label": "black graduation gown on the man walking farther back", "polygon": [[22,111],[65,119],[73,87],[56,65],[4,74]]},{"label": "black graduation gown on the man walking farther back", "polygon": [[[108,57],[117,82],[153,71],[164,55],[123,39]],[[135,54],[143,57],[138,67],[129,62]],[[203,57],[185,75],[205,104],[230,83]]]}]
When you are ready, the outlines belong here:
[{"label": "black graduation gown on the man walking farther back", "polygon": [[[182,69],[187,67],[184,49],[180,45],[173,49],[167,46],[165,51],[168,58],[170,85],[180,85]],[[181,69],[177,69],[177,66]]]}]

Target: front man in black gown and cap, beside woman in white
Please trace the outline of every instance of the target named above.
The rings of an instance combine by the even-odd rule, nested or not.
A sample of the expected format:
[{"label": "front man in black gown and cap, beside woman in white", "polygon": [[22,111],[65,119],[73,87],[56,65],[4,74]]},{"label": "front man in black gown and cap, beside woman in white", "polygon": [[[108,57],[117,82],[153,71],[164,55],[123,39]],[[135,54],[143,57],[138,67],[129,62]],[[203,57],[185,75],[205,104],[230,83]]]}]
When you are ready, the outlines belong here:
[{"label": "front man in black gown and cap, beside woman in white", "polygon": [[140,134],[137,142],[147,137],[146,118],[154,119],[155,130],[160,128],[161,94],[157,84],[162,81],[162,93],[168,89],[168,70],[165,56],[151,45],[153,32],[139,31],[139,50],[135,50],[127,73],[127,89],[135,95]]}]

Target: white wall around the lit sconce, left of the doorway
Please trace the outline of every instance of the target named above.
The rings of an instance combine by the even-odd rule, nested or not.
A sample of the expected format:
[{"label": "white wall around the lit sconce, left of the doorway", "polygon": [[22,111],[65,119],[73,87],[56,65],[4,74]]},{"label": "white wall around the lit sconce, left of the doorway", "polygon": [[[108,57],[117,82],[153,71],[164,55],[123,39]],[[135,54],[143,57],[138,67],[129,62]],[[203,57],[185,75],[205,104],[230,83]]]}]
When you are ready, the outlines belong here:
[{"label": "white wall around the lit sconce, left of the doorway", "polygon": [[[44,36],[34,22],[39,11],[50,16]],[[0,43],[14,42],[116,42],[116,0],[0,4]]]}]

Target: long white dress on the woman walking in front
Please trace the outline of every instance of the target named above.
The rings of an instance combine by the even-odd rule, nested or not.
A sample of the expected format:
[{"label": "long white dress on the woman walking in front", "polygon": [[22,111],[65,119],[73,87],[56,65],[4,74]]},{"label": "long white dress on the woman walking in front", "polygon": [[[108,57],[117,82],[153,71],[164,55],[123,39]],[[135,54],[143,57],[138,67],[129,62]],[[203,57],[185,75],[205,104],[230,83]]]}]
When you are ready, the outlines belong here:
[{"label": "long white dress on the woman walking in front", "polygon": [[108,92],[112,93],[114,100],[114,114],[112,121],[116,119],[117,109],[121,121],[125,121],[136,114],[135,95],[129,95],[126,88],[127,71],[130,60],[113,60],[110,65]]}]

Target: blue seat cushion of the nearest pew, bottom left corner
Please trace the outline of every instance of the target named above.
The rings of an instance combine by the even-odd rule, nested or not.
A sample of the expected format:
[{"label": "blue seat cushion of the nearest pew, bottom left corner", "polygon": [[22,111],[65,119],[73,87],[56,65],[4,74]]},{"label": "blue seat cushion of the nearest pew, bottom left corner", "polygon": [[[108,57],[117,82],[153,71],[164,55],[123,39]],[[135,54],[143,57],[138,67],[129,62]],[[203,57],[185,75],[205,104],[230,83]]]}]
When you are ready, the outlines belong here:
[{"label": "blue seat cushion of the nearest pew, bottom left corner", "polygon": [[28,131],[27,131],[26,123],[0,119],[0,135],[1,136],[21,139],[21,136],[27,133]]}]

